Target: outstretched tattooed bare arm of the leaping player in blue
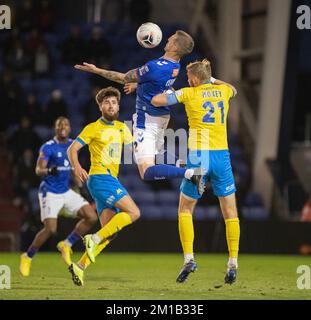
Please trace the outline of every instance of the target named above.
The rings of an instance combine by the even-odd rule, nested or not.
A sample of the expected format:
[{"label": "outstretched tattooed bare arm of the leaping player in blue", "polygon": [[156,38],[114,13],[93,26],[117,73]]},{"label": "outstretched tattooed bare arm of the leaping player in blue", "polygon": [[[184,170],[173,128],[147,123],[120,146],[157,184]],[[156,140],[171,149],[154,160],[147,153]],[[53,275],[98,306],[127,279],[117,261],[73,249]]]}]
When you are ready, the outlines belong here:
[{"label": "outstretched tattooed bare arm of the leaping player in blue", "polygon": [[130,70],[127,73],[121,73],[116,71],[100,69],[97,68],[94,64],[89,64],[86,62],[83,62],[83,65],[76,64],[75,68],[81,71],[98,74],[99,76],[102,76],[110,81],[118,82],[121,84],[138,81],[136,69]]}]

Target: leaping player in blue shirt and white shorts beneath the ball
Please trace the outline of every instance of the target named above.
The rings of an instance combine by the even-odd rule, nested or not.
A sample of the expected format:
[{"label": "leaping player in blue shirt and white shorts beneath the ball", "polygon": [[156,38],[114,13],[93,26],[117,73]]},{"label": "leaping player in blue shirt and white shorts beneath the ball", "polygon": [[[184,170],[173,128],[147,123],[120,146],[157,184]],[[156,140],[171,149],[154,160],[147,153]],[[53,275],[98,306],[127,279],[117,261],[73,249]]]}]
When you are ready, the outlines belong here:
[{"label": "leaping player in blue shirt and white shorts beneath the ball", "polygon": [[[200,168],[180,168],[172,165],[155,165],[155,156],[163,153],[164,131],[170,120],[169,107],[155,108],[153,96],[171,89],[180,71],[180,59],[190,54],[194,47],[192,37],[178,30],[167,41],[164,55],[147,62],[144,66],[120,73],[97,68],[83,63],[75,68],[100,75],[121,84],[137,83],[136,114],[133,115],[135,158],[143,180],[186,178],[197,185],[200,194],[204,192]],[[126,89],[130,90],[129,88]]]}]

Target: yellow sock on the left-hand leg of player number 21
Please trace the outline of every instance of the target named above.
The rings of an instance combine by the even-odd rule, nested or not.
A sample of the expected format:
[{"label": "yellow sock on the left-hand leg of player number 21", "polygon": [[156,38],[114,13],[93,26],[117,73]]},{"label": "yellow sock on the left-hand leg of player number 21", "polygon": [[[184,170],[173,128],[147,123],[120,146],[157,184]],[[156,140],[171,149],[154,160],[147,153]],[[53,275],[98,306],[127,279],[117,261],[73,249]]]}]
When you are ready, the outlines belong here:
[{"label": "yellow sock on the left-hand leg of player number 21", "polygon": [[194,229],[191,213],[181,212],[178,214],[178,228],[184,255],[193,254]]}]

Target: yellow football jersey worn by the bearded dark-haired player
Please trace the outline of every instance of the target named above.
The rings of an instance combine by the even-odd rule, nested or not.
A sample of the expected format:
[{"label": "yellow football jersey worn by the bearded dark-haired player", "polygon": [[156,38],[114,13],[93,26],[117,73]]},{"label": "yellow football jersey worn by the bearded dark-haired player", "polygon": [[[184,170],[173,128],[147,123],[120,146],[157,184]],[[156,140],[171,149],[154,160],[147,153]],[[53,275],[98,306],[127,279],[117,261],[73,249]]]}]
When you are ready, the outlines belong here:
[{"label": "yellow football jersey worn by the bearded dark-haired player", "polygon": [[117,178],[122,146],[132,143],[133,136],[123,122],[107,122],[100,118],[87,125],[77,137],[77,141],[89,146],[91,154],[90,175],[111,174]]}]

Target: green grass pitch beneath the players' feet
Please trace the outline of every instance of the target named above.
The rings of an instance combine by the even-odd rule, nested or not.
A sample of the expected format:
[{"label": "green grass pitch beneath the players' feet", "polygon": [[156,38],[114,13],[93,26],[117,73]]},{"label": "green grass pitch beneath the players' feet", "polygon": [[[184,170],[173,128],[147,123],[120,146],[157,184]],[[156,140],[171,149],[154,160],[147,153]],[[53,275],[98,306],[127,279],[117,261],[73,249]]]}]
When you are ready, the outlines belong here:
[{"label": "green grass pitch beneath the players' feet", "polygon": [[11,289],[0,290],[0,299],[311,299],[311,290],[296,286],[297,267],[311,266],[310,257],[241,255],[232,286],[223,284],[225,255],[198,254],[196,260],[197,272],[176,284],[181,255],[106,253],[86,271],[84,287],[76,287],[57,253],[39,253],[28,278],[19,274],[19,254],[0,253],[0,265],[12,272]]}]

